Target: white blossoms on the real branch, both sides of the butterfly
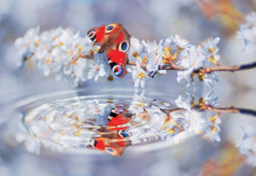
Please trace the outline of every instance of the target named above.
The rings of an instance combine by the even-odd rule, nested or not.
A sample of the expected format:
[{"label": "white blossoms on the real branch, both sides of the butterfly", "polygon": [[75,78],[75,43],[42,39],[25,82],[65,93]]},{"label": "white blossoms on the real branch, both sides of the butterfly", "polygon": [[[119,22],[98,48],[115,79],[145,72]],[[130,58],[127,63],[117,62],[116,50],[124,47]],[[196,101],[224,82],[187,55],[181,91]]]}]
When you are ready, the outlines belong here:
[{"label": "white blossoms on the real branch, both sides of the butterfly", "polygon": [[[98,80],[106,75],[107,66],[104,54],[99,54],[99,46],[93,44],[88,37],[82,38],[80,33],[73,33],[70,28],[58,27],[45,31],[39,35],[39,26],[30,28],[23,38],[15,41],[18,51],[17,66],[23,67],[27,59],[37,62],[44,75],[55,74],[55,79],[60,80],[63,75],[71,80],[77,87],[86,79]],[[145,86],[145,80],[149,77],[166,74],[166,70],[159,66],[180,65],[186,70],[177,72],[179,83],[192,84],[197,78],[193,71],[200,67],[218,64],[220,57],[217,55],[219,38],[209,39],[200,46],[190,44],[189,41],[179,35],[172,35],[165,40],[156,42],[139,42],[136,38],[130,38],[130,47],[126,52],[129,61],[136,61],[136,66],[127,68],[132,73],[135,88]],[[91,60],[84,59],[85,55],[91,56]],[[84,57],[82,57],[84,56]],[[141,64],[145,66],[141,68]],[[200,81],[213,87],[217,81],[215,74],[198,75]]]}]

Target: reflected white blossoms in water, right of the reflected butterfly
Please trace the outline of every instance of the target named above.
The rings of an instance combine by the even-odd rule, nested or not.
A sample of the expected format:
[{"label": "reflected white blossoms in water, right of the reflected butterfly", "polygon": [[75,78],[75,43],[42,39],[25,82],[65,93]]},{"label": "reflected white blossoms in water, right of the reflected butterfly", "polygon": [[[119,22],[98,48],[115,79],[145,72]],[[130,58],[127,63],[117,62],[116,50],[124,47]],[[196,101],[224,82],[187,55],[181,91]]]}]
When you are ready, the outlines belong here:
[{"label": "reflected white blossoms in water, right of the reflected butterfly", "polygon": [[[206,105],[215,106],[217,97],[213,97],[213,91],[204,95]],[[144,97],[136,95],[129,107],[129,110],[137,114],[133,123],[139,127],[131,126],[129,132],[132,133],[130,139],[133,144],[137,144],[143,139],[151,141],[160,138],[161,140],[172,141],[175,144],[188,139],[193,133],[202,134],[210,141],[220,142],[220,114],[208,111],[199,111],[193,108],[192,97],[180,95],[175,103],[182,111],[163,111],[169,106],[166,102],[150,101]],[[194,103],[194,102],[193,102]],[[141,114],[146,111],[150,116],[142,118]],[[141,119],[142,118],[142,119]]]}]

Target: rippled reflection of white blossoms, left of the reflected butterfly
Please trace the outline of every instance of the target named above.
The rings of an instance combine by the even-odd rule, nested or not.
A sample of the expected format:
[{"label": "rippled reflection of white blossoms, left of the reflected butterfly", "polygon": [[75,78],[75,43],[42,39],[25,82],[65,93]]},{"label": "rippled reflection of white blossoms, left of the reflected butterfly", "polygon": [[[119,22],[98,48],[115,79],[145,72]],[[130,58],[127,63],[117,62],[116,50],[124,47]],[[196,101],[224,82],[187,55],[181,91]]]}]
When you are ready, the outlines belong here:
[{"label": "rippled reflection of white blossoms, left of the reflected butterfly", "polygon": [[[20,131],[16,133],[18,142],[25,142],[28,152],[40,153],[41,146],[52,150],[82,148],[89,144],[90,138],[98,130],[97,125],[106,122],[101,116],[106,116],[110,108],[98,100],[71,99],[57,100],[39,106],[28,114],[22,114]],[[96,124],[84,123],[95,119]]]}]

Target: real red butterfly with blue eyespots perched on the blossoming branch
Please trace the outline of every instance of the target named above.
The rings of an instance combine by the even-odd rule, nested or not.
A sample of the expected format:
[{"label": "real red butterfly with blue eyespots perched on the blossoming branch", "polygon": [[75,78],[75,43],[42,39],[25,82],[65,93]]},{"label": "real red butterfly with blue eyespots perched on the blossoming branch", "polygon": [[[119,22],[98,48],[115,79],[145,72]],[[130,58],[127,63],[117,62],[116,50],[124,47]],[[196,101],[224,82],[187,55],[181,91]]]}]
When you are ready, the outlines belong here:
[{"label": "real red butterfly with blue eyespots perched on the blossoming branch", "polygon": [[126,73],[131,35],[121,24],[110,24],[92,28],[87,33],[95,44],[101,44],[99,53],[106,52],[108,64],[116,76],[122,78]]}]

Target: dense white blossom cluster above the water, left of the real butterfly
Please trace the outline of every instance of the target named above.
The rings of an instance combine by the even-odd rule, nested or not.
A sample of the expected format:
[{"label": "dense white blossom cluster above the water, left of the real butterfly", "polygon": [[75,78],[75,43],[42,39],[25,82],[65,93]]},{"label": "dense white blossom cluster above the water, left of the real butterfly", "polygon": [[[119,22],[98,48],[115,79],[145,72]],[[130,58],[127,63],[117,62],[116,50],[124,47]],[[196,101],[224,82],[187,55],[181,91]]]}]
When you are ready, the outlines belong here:
[{"label": "dense white blossom cluster above the water, left of the real butterfly", "polygon": [[64,75],[75,87],[86,79],[97,81],[99,76],[106,75],[108,67],[105,62],[98,60],[96,63],[82,58],[83,54],[100,57],[99,46],[87,37],[82,38],[79,31],[74,33],[71,28],[58,27],[39,35],[39,29],[39,26],[30,28],[23,38],[15,41],[19,50],[18,67],[23,67],[27,59],[34,60],[45,77],[54,74],[55,79],[60,80]]}]

